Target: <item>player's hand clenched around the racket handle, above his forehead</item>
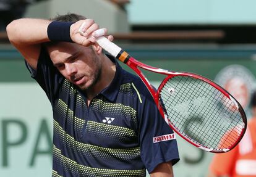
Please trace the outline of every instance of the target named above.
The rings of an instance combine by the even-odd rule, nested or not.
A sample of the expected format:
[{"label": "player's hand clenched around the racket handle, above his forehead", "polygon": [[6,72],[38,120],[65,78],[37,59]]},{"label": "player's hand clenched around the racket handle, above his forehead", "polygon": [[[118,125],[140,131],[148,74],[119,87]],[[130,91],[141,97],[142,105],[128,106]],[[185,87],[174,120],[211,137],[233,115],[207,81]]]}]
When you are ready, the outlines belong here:
[{"label": "player's hand clenched around the racket handle, above his forehead", "polygon": [[[82,27],[82,33],[80,30],[80,27]],[[95,33],[96,30],[99,30],[99,25],[94,22],[92,19],[86,19],[86,20],[79,20],[78,22],[72,24],[70,26],[70,38],[74,43],[80,44],[82,46],[90,46],[92,44],[96,43],[96,39],[100,36],[106,36],[108,33],[108,30],[106,28],[102,28],[100,35]],[[113,36],[108,36],[108,39],[110,41],[113,40]]]}]

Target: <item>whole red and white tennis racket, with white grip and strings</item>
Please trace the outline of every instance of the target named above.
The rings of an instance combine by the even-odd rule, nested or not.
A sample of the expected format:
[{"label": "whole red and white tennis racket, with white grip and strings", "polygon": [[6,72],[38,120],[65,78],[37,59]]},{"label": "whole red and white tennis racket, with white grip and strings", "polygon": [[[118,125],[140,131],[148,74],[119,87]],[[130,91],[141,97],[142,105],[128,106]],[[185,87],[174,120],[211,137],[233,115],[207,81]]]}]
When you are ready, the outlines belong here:
[{"label": "whole red and white tennis racket, with white grip and strings", "polygon": [[[207,152],[228,152],[242,139],[247,120],[239,102],[225,89],[194,73],[145,65],[104,36],[97,43],[134,70],[147,86],[166,123],[190,144]],[[157,91],[139,70],[166,75]]]}]

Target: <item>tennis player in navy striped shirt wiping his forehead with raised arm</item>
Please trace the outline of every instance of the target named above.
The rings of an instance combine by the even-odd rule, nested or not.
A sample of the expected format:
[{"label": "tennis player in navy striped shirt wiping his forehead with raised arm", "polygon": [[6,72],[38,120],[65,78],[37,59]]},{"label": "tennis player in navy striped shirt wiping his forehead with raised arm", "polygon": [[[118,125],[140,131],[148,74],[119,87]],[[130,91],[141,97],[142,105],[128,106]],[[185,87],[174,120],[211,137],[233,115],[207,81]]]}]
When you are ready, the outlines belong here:
[{"label": "tennis player in navy striped shirt wiping his forehead with raised arm", "polygon": [[142,81],[95,43],[98,25],[84,19],[67,14],[7,26],[53,107],[53,176],[139,177],[145,168],[151,176],[173,176],[176,140],[153,143],[173,131]]}]

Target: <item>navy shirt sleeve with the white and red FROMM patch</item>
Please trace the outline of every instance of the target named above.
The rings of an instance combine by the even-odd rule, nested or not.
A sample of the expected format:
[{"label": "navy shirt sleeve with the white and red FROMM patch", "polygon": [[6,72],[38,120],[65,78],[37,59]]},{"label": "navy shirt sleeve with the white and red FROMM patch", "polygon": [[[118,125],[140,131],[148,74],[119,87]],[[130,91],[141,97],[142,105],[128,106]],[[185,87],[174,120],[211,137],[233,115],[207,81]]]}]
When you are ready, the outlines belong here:
[{"label": "navy shirt sleeve with the white and red FROMM patch", "polygon": [[161,117],[150,95],[140,105],[140,153],[148,173],[163,162],[172,162],[174,165],[179,161],[179,152],[173,130]]}]

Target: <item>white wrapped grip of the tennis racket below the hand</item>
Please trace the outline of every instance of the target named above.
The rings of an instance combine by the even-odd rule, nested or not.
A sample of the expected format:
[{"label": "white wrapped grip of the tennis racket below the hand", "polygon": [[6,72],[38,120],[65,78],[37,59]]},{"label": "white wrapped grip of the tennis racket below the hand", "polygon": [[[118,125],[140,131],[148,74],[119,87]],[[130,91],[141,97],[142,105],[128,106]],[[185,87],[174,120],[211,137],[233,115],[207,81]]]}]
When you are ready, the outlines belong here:
[{"label": "white wrapped grip of the tennis racket below the hand", "polygon": [[105,38],[104,36],[96,38],[96,41],[99,44],[99,46],[101,46],[103,49],[105,49],[105,51],[109,52],[109,54],[111,54],[114,57],[117,57],[119,52],[122,50],[120,47],[109,41],[109,39]]}]

